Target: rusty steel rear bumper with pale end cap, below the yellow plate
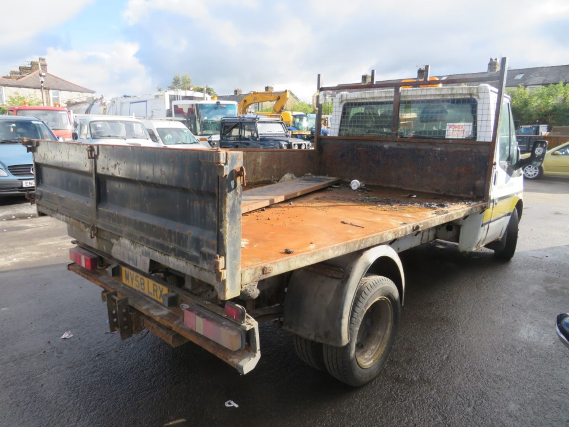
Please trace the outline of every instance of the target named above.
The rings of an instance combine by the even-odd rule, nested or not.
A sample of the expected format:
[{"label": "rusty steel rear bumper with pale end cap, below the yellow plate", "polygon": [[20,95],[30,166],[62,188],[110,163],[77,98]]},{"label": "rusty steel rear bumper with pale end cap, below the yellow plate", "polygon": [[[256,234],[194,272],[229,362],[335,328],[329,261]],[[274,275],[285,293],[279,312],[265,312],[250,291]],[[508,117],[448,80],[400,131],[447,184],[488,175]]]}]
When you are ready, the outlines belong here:
[{"label": "rusty steel rear bumper with pale end cap, below the yellow plate", "polygon": [[[106,295],[109,293],[114,295],[113,298],[128,298],[127,303],[129,307],[134,309],[130,310],[131,316],[129,321],[129,323],[133,324],[133,333],[138,333],[142,328],[146,328],[173,347],[189,340],[236,368],[241,374],[250,372],[257,366],[261,358],[258,323],[249,315],[246,316],[245,321],[241,324],[233,324],[234,328],[245,330],[245,343],[244,348],[232,351],[184,325],[184,312],[180,309],[180,306],[188,303],[199,305],[202,312],[207,311],[207,317],[210,321],[217,322],[220,325],[227,325],[228,323],[228,319],[220,315],[218,310],[204,309],[203,305],[197,302],[196,299],[192,299],[188,293],[184,291],[178,293],[178,306],[165,307],[123,285],[118,277],[110,276],[110,273],[104,269],[88,270],[75,263],[69,264],[68,269],[100,286],[103,289],[102,296],[105,301]],[[183,304],[180,304],[180,302]],[[219,309],[217,306],[214,306],[214,308]],[[140,325],[140,327],[136,327],[136,325]]]}]

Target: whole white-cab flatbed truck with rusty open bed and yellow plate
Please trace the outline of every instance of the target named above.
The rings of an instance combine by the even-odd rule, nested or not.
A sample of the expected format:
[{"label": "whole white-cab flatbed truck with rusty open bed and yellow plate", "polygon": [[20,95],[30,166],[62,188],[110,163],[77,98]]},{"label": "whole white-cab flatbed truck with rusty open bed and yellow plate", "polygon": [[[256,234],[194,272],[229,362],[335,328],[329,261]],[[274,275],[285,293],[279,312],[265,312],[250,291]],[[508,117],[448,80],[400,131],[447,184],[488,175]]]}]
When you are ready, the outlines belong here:
[{"label": "whole white-cab flatbed truck with rusty open bed and yellow plate", "polygon": [[[315,150],[26,141],[36,174],[30,198],[68,224],[77,242],[69,269],[101,286],[121,338],[148,329],[172,346],[191,340],[246,373],[261,355],[258,323],[275,321],[292,332],[304,362],[362,385],[397,332],[405,291],[398,252],[442,239],[513,256],[519,162],[512,152],[500,163],[510,174],[503,178],[496,161],[497,123],[509,112],[506,69],[503,59],[498,89],[419,90],[428,69],[425,80],[404,84],[410,89],[349,85],[334,114],[359,102],[354,90],[372,91],[364,106],[391,96],[393,132],[338,136],[332,123]],[[435,99],[440,110],[444,97],[478,106],[468,125],[476,138],[399,136],[400,104]],[[306,178],[270,184],[287,173]],[[365,187],[351,190],[354,178]]]}]

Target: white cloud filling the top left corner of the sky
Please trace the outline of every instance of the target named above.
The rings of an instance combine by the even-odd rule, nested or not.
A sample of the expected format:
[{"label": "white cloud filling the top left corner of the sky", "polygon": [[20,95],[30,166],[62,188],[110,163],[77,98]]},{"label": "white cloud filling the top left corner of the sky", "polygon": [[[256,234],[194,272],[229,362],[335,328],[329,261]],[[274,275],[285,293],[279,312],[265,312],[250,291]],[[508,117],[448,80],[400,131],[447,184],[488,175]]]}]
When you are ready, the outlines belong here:
[{"label": "white cloud filling the top left corner of the sky", "polygon": [[[2,2],[0,47],[22,43],[74,17],[94,0],[28,0]],[[37,60],[37,58],[36,58]]]}]

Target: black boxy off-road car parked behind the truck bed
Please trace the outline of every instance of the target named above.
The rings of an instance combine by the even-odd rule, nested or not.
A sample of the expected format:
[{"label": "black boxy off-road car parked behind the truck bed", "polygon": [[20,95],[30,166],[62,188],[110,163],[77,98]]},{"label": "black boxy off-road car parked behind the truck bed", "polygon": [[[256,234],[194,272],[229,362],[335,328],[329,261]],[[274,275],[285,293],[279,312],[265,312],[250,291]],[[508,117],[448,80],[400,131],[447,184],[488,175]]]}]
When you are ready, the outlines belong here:
[{"label": "black boxy off-road car parked behind the truck bed", "polygon": [[284,122],[265,116],[224,117],[221,119],[221,148],[310,148],[310,143],[291,138]]}]

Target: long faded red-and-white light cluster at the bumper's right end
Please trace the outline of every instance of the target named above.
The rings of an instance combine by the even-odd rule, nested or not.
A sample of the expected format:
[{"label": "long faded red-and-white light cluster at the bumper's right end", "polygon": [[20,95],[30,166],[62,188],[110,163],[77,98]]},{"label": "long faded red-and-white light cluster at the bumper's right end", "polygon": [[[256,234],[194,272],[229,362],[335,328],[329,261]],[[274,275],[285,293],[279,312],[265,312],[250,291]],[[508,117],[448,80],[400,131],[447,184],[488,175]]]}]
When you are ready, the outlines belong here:
[{"label": "long faded red-and-white light cluster at the bumper's right end", "polygon": [[229,350],[236,351],[245,347],[245,330],[236,323],[211,315],[199,307],[184,305],[184,325]]}]

